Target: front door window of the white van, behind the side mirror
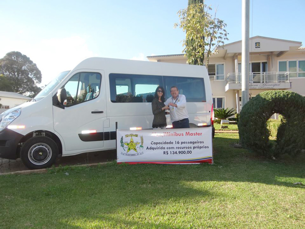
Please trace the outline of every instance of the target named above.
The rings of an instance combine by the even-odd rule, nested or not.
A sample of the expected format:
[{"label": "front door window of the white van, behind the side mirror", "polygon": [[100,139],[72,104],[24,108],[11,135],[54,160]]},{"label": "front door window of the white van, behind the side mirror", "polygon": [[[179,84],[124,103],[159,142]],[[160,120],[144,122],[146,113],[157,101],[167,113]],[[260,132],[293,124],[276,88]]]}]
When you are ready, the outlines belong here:
[{"label": "front door window of the white van, behind the side mirror", "polygon": [[73,75],[65,84],[67,105],[73,106],[99,96],[102,76],[100,73],[82,72]]}]

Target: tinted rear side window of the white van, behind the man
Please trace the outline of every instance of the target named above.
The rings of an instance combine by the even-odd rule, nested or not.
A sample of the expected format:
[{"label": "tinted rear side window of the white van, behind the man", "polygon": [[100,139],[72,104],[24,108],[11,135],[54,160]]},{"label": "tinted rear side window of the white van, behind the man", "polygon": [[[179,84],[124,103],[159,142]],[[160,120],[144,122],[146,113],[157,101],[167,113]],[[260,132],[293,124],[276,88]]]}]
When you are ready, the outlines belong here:
[{"label": "tinted rear side window of the white van, behind the man", "polygon": [[170,88],[178,87],[179,94],[185,95],[186,102],[206,102],[203,78],[164,76],[165,97],[169,98]]}]

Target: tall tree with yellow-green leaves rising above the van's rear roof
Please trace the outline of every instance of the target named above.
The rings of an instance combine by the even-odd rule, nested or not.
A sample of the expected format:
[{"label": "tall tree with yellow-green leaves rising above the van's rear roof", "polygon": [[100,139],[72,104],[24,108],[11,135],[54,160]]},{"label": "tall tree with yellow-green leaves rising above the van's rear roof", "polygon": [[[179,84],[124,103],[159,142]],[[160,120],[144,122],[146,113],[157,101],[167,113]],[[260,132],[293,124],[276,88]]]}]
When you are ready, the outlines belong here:
[{"label": "tall tree with yellow-green leaves rising above the van's rear roof", "polygon": [[208,66],[210,56],[217,46],[228,40],[228,33],[225,30],[227,24],[216,17],[217,10],[214,15],[210,14],[212,8],[205,5],[203,0],[189,0],[188,3],[186,9],[178,11],[180,23],[175,23],[174,27],[179,26],[186,32],[183,52],[187,57],[187,63],[203,65],[206,54]]}]

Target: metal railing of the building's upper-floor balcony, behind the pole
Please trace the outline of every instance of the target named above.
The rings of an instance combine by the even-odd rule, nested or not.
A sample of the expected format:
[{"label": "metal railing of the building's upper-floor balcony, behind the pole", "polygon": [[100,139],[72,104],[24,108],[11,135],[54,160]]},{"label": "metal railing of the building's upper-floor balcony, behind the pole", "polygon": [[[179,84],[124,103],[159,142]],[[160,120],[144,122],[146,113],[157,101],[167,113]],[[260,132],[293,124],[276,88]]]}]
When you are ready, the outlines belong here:
[{"label": "metal railing of the building's upper-floor balcony, behind the pole", "polygon": [[[229,73],[226,77],[226,84],[240,84],[241,73]],[[289,72],[251,72],[249,83],[285,83],[289,82]]]}]

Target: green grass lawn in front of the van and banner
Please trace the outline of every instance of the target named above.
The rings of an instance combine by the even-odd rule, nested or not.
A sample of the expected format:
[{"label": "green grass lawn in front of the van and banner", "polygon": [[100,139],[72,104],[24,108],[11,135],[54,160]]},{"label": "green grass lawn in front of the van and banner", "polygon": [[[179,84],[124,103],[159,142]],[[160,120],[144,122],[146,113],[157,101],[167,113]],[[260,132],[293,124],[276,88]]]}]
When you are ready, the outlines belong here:
[{"label": "green grass lawn in front of the van and banner", "polygon": [[[304,228],[304,164],[216,134],[215,165],[116,165],[0,176],[0,228]],[[66,175],[65,173],[69,173]]]}]

